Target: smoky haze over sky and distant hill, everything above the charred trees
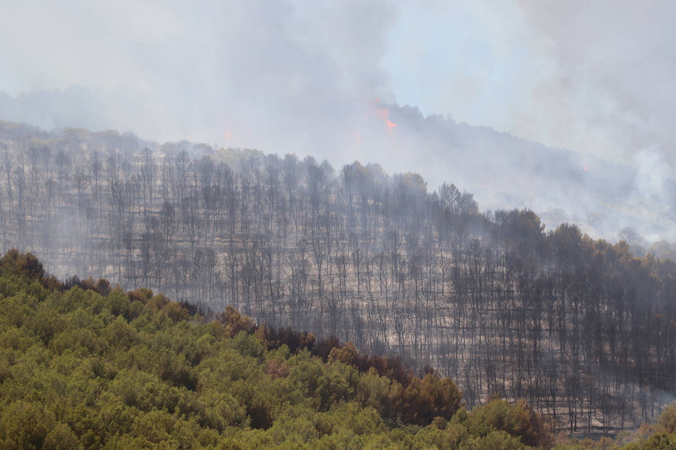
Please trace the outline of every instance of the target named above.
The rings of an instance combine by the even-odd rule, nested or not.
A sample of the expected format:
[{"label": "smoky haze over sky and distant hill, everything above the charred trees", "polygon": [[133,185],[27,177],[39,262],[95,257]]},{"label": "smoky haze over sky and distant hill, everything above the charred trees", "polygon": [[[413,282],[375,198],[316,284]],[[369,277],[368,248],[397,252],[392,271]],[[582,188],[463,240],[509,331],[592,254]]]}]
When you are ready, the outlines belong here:
[{"label": "smoky haze over sky and distant hill, everything above the charred trees", "polygon": [[4,3],[2,119],[376,161],[676,240],[670,3]]}]

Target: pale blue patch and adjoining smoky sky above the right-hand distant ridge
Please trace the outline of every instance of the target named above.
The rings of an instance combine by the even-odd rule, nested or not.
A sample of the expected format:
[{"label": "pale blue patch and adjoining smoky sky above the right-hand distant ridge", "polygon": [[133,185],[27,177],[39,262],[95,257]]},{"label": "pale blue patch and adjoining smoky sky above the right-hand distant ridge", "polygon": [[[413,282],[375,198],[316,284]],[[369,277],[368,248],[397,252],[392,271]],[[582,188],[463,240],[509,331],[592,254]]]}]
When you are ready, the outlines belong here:
[{"label": "pale blue patch and adjoining smoky sky above the right-hand distant ridge", "polygon": [[400,7],[385,55],[399,103],[620,163],[655,143],[673,166],[676,3]]}]

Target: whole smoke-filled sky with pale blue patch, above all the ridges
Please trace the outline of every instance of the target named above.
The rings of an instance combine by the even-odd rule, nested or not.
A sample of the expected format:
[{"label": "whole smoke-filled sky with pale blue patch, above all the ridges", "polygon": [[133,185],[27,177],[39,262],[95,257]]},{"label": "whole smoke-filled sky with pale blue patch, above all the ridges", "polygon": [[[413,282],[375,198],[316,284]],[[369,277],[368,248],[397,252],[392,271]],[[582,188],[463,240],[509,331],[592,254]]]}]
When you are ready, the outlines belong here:
[{"label": "whole smoke-filled sky with pale blue patch, above all the ridges", "polygon": [[651,148],[676,162],[673,1],[0,0],[0,10],[0,91],[47,90],[15,111],[47,128],[323,156],[352,148],[364,105],[381,99],[607,159]]}]

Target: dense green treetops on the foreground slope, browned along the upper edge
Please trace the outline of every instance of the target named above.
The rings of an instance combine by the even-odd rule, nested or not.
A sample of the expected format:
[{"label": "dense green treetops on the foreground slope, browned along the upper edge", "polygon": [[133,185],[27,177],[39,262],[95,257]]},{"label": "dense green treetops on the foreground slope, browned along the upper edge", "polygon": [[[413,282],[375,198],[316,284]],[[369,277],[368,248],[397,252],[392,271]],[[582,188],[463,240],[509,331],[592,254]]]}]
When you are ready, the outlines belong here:
[{"label": "dense green treetops on the foreground slope, browned along the upper edge", "polygon": [[[0,448],[551,444],[525,401],[468,412],[450,379],[418,378],[349,343],[327,349],[232,308],[219,320],[191,317],[149,289],[80,285],[45,277],[30,254],[0,260]],[[631,448],[671,448],[675,416],[667,410]]]}]

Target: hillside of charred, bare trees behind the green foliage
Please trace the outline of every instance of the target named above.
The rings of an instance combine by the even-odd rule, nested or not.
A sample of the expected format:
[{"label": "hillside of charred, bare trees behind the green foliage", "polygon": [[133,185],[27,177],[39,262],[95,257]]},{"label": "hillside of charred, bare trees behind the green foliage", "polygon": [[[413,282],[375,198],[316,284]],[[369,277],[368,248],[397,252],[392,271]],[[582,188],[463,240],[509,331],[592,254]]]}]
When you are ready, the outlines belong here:
[{"label": "hillside of charred, bare trees behind the green foliage", "polygon": [[353,341],[434,367],[469,407],[525,398],[557,430],[637,427],[676,394],[673,260],[377,164],[2,130],[3,250],[59,279]]}]

